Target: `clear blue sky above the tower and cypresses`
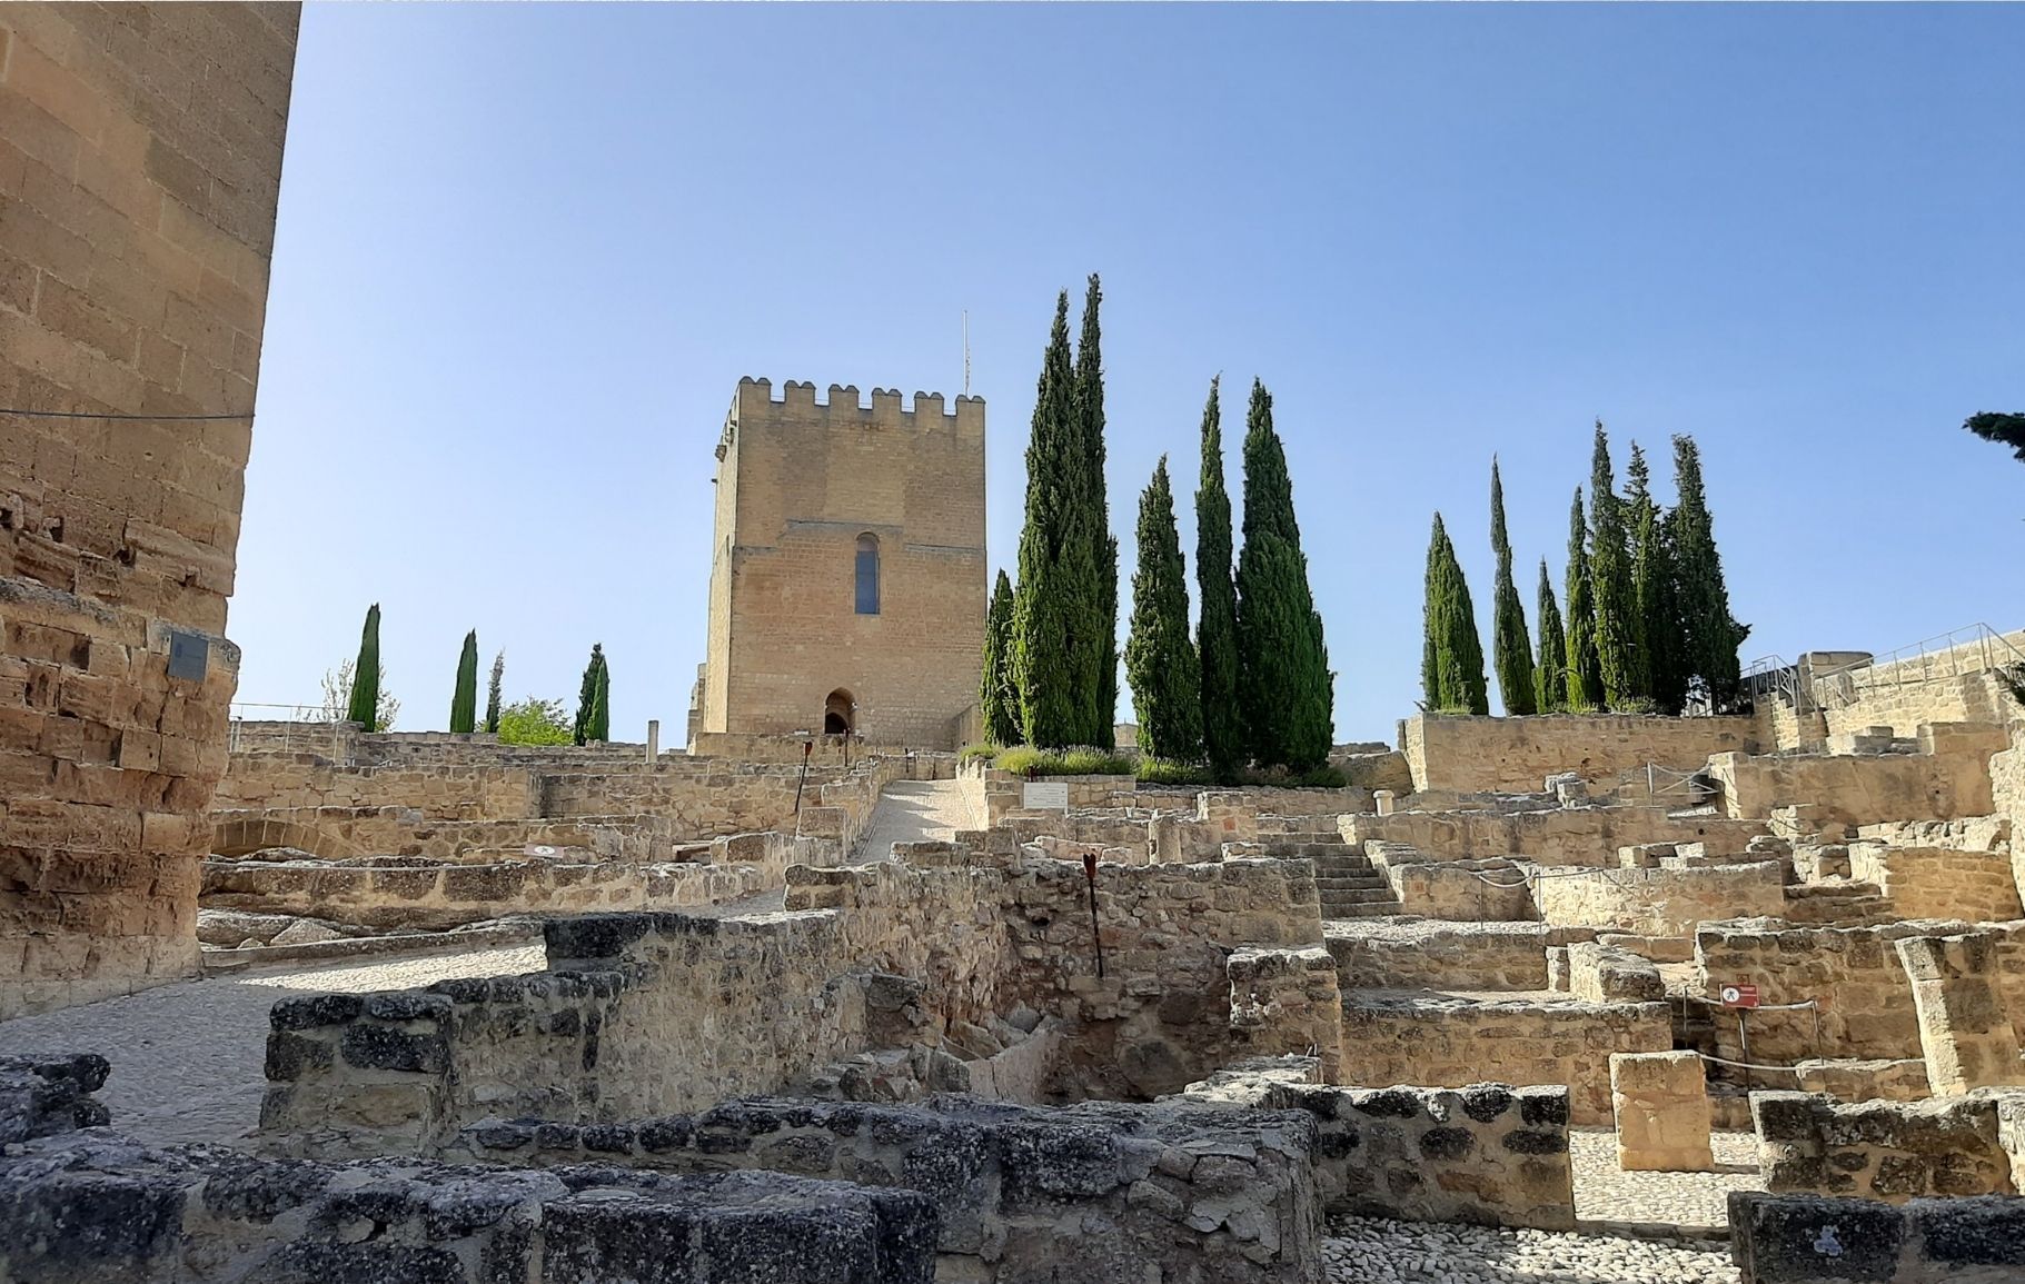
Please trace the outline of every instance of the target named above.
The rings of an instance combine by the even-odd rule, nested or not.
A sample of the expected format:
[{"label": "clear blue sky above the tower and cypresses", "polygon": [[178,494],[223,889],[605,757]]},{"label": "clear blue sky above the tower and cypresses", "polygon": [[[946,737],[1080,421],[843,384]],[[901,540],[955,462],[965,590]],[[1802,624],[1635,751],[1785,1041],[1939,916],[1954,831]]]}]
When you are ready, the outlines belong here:
[{"label": "clear blue sky above the tower and cypresses", "polygon": [[[1420,695],[1430,514],[1531,616],[1590,423],[1707,462],[1746,660],[2015,628],[2017,6],[326,6],[302,16],[231,636],[314,701],[385,608],[401,727],[680,741],[739,375],[972,387],[1010,565],[1055,292],[1104,273],[1112,527],[1274,391],[1336,737]],[[1663,494],[1671,468],[1658,466]],[[1128,589],[1126,589],[1128,591]],[[982,599],[982,595],[980,595]],[[1122,713],[1130,715],[1124,701]]]}]

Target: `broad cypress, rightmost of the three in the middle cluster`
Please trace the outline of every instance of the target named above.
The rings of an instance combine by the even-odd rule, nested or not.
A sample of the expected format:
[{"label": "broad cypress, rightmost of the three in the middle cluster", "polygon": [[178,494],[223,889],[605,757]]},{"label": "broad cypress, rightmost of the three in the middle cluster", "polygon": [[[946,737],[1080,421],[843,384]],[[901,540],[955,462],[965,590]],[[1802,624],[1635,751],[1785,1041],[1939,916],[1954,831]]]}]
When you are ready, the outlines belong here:
[{"label": "broad cypress, rightmost of the three in the middle cluster", "polygon": [[1294,482],[1272,427],[1272,393],[1251,381],[1245,413],[1245,547],[1237,555],[1237,685],[1245,741],[1262,768],[1328,761],[1334,674],[1308,559],[1294,520]]}]

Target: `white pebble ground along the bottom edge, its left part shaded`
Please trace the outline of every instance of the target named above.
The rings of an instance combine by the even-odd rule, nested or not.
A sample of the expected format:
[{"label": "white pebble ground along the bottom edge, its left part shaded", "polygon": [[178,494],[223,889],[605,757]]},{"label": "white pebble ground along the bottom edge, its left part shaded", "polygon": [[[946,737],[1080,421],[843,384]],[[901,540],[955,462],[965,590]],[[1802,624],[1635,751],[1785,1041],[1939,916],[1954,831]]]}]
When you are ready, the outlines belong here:
[{"label": "white pebble ground along the bottom edge, its left part shaded", "polygon": [[1330,1284],[1739,1284],[1727,1250],[1480,1225],[1330,1217]]}]

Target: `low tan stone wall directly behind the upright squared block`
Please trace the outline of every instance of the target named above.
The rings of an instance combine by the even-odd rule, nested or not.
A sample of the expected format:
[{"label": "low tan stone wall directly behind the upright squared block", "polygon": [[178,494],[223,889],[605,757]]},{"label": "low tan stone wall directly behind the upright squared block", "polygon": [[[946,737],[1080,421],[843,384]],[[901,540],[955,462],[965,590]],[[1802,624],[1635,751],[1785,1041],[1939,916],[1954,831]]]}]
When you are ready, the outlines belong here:
[{"label": "low tan stone wall directly behind the upright squared block", "polygon": [[1610,1053],[1671,1047],[1665,1002],[1492,1002],[1363,990],[1343,1005],[1345,1084],[1565,1084],[1575,1124],[1612,1118]]}]

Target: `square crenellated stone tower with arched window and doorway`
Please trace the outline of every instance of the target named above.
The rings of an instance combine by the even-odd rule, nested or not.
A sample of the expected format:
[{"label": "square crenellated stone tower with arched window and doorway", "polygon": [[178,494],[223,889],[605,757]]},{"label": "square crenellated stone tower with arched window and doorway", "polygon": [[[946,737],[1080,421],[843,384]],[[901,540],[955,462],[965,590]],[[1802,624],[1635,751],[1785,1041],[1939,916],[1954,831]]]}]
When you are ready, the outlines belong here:
[{"label": "square crenellated stone tower with arched window and doorway", "polygon": [[984,650],[984,401],[741,379],[695,731],[956,747]]}]

